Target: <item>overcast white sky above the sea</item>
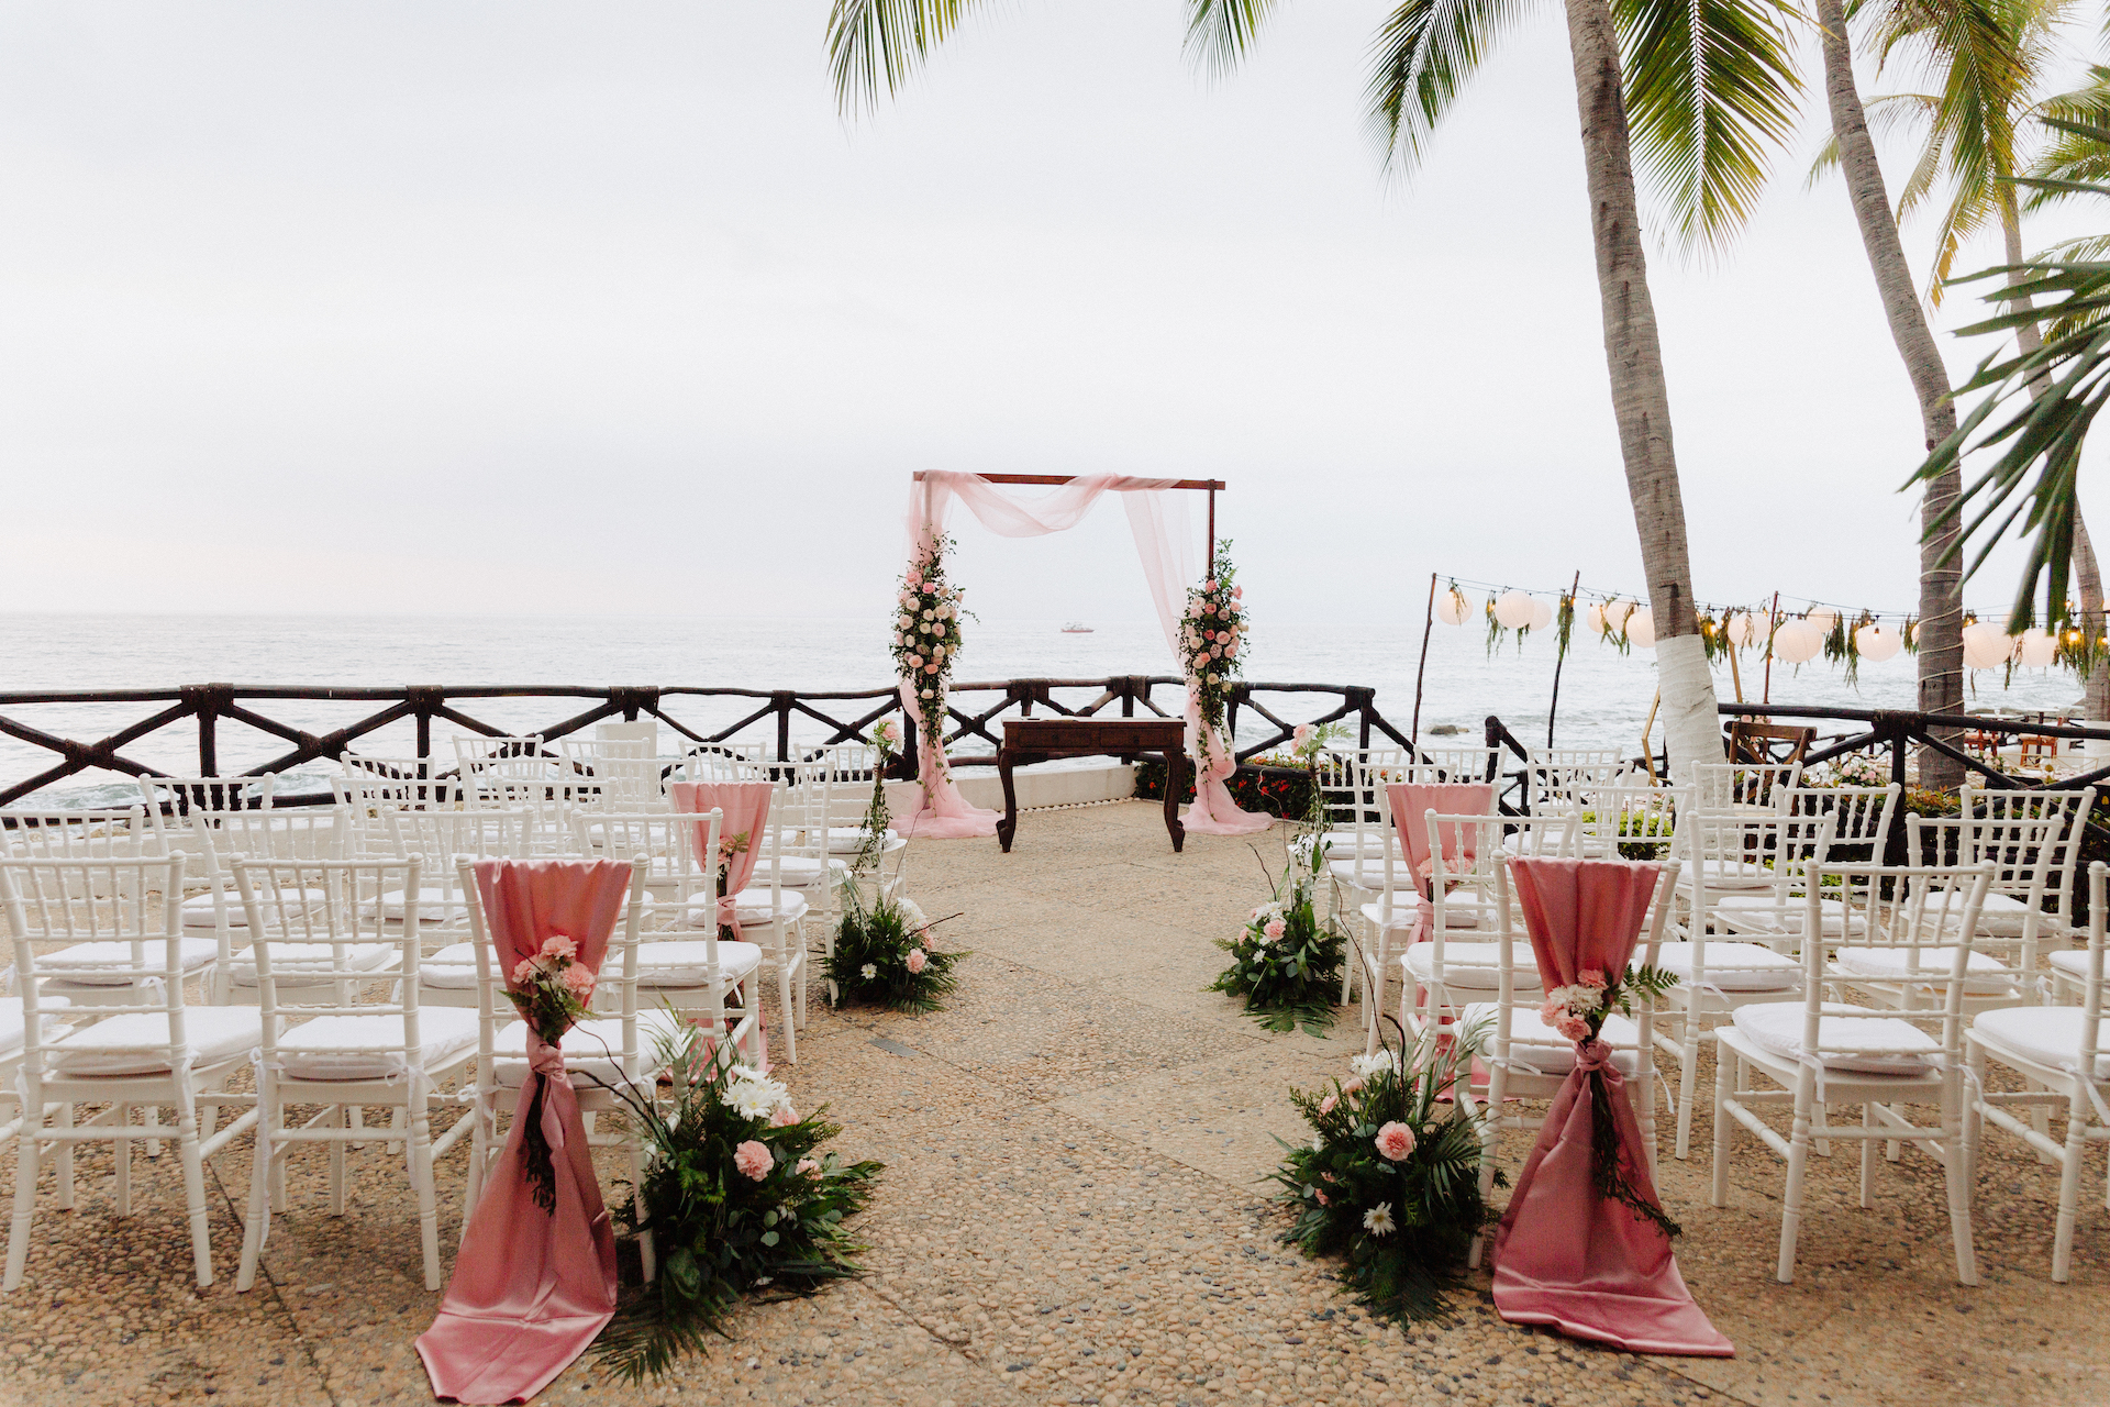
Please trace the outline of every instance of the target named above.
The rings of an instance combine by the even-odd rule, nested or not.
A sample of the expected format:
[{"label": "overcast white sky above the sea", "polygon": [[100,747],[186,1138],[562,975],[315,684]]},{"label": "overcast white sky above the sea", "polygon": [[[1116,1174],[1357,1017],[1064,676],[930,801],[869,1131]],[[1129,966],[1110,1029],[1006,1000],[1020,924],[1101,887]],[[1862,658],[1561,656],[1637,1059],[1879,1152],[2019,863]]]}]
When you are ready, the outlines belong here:
[{"label": "overcast white sky above the sea", "polygon": [[[0,608],[863,614],[912,468],[1228,479],[1277,618],[1637,584],[1555,6],[1412,184],[1374,2],[1207,80],[1177,0],[1013,0],[859,122],[825,13],[0,8]],[[1918,416],[1808,148],[1650,270],[1696,589],[1910,608]],[[1112,508],[960,538],[983,612],[1148,614]]]}]

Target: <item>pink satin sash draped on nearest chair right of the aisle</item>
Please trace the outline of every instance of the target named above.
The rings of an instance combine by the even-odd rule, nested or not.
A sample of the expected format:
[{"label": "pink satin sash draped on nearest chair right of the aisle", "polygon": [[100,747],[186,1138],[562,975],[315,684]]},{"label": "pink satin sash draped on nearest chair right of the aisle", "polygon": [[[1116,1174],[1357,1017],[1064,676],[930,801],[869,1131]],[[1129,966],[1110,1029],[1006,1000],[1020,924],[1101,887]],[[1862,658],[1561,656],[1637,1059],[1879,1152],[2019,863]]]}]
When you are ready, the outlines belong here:
[{"label": "pink satin sash draped on nearest chair right of the aisle", "polygon": [[[1547,987],[1582,968],[1620,972],[1656,888],[1642,861],[1517,859],[1509,875]],[[1671,1240],[1654,1221],[1597,1194],[1591,1177],[1591,1080],[1604,1080],[1627,1183],[1654,1200],[1642,1126],[1604,1042],[1576,1042],[1568,1074],[1494,1234],[1494,1308],[1521,1325],[1639,1354],[1737,1352],[1692,1302]]]}]

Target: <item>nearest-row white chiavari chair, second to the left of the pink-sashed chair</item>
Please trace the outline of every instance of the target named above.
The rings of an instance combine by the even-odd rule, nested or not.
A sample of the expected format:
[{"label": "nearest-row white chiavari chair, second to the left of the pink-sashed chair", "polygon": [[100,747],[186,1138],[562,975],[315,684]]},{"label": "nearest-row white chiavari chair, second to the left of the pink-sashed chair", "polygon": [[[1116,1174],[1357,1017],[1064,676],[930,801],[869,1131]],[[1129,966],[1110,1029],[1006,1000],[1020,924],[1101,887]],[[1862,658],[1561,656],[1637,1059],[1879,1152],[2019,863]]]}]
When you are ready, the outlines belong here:
[{"label": "nearest-row white chiavari chair, second to the left of the pink-sashed chair", "polygon": [[[226,1082],[262,1038],[253,1008],[190,1006],[175,897],[184,892],[184,854],[112,861],[0,861],[0,899],[15,945],[23,1051],[17,1069],[21,1126],[15,1152],[15,1217],[8,1228],[0,1291],[21,1285],[36,1221],[36,1181],[46,1148],[57,1152],[59,1207],[72,1207],[76,1143],[112,1143],[114,1211],[131,1215],[131,1145],[173,1139],[184,1177],[184,1211],[200,1287],[213,1283],[207,1228],[205,1160],[255,1122],[243,1112],[217,1129],[222,1105],[247,1103]],[[55,1034],[44,1015],[80,1015],[78,956],[97,949],[99,970],[137,994],[129,1010]],[[53,966],[53,958],[70,962]],[[49,985],[63,985],[49,1002]],[[89,1120],[80,1105],[99,1105]],[[133,1124],[133,1112],[175,1110],[175,1124]],[[57,1122],[53,1122],[57,1118]]]}]

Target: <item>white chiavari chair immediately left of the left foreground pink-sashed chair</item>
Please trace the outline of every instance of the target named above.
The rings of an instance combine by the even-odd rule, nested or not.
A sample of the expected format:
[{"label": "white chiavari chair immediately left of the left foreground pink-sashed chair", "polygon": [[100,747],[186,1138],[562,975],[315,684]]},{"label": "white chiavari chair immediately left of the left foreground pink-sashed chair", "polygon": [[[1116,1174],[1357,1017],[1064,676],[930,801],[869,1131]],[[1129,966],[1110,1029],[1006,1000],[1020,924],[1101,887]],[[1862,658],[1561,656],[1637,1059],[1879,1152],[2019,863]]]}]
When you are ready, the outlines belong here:
[{"label": "white chiavari chair immediately left of the left foreground pink-sashed chair", "polygon": [[[329,1150],[329,1215],[344,1215],[346,1150],[371,1137],[361,1116],[367,1107],[397,1112],[418,1200],[424,1287],[441,1287],[433,1158],[460,1131],[449,1129],[435,1143],[430,1114],[437,1086],[462,1076],[477,1055],[477,1017],[454,1006],[424,1008],[418,905],[384,930],[369,903],[390,890],[416,892],[420,867],[418,859],[234,861],[262,1017],[257,1143],[236,1291],[255,1283],[272,1207],[285,1204],[285,1160],[293,1148]],[[310,903],[314,890],[329,901]],[[388,953],[386,972],[367,958],[373,949]],[[380,987],[382,1000],[369,1000],[376,977],[395,979]],[[321,1112],[293,1122],[289,1107]]]}]

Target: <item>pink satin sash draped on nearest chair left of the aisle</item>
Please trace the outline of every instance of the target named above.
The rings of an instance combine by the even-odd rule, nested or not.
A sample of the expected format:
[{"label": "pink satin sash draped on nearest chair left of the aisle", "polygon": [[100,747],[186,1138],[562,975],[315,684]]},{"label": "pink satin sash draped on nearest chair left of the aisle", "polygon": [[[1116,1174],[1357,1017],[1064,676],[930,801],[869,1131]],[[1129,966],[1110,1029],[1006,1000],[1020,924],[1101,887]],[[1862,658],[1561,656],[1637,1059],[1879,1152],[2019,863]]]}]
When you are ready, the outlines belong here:
[{"label": "pink satin sash draped on nearest chair left of the aisle", "polygon": [[[498,970],[551,934],[578,943],[599,970],[631,888],[622,861],[479,861],[477,890]],[[418,1356],[433,1394],[456,1403],[525,1403],[561,1373],[616,1312],[616,1234],[593,1177],[593,1152],[563,1051],[528,1032],[530,1076],[542,1080],[542,1137],[557,1171],[557,1209],[542,1211],[521,1167],[536,1080],[521,1080],[506,1145],[462,1228],[454,1278]]]}]

